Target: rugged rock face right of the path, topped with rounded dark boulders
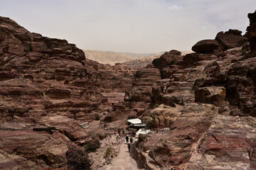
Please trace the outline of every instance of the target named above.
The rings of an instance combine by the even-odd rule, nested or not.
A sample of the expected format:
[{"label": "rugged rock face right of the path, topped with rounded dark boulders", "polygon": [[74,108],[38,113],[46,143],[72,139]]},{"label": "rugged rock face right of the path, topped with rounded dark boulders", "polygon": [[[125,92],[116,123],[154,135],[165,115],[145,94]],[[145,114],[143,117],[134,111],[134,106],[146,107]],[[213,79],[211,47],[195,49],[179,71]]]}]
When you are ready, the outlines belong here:
[{"label": "rugged rock face right of the path, topped with rounded dark boulders", "polygon": [[151,86],[156,108],[142,119],[157,130],[139,135],[132,148],[141,168],[255,169],[254,16],[250,48],[240,30],[228,30],[197,42],[196,53],[175,64],[166,56],[153,62],[161,72]]}]

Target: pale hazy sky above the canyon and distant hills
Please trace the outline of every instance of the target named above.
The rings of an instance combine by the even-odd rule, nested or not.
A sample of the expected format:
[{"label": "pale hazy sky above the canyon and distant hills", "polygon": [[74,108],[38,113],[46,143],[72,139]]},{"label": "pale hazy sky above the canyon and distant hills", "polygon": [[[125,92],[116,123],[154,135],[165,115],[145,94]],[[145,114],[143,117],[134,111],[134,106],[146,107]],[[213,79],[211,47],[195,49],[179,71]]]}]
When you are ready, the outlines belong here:
[{"label": "pale hazy sky above the canyon and distant hills", "polygon": [[256,0],[0,0],[0,16],[85,50],[191,50],[230,28],[245,33]]}]

